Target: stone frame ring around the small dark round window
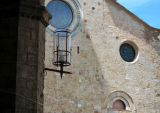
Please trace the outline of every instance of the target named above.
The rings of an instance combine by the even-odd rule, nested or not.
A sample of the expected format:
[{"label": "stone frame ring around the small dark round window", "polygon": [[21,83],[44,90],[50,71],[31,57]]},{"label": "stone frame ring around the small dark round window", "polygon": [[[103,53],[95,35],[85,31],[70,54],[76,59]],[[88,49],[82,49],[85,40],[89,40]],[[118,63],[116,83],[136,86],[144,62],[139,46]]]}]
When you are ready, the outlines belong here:
[{"label": "stone frame ring around the small dark round window", "polygon": [[[130,46],[133,47],[133,49],[134,49],[134,51],[135,51],[135,58],[134,58],[133,61],[127,62],[127,61],[125,61],[125,60],[122,58],[122,56],[121,56],[121,54],[120,54],[120,48],[121,48],[121,46],[122,46],[123,44],[129,44]],[[120,57],[121,57],[121,59],[122,59],[123,61],[125,61],[125,62],[127,62],[127,63],[133,64],[133,63],[137,62],[137,61],[138,61],[138,58],[139,58],[139,49],[138,49],[138,46],[137,46],[133,41],[130,41],[130,40],[123,41],[123,42],[120,44],[120,46],[119,46],[119,55],[120,55]]]}]

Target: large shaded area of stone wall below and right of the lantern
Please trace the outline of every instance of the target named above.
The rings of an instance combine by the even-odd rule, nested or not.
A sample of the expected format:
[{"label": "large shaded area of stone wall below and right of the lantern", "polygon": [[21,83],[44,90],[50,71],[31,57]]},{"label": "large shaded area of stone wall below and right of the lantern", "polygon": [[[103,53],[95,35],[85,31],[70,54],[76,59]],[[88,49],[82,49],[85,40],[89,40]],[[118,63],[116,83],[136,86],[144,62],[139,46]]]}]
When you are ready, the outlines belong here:
[{"label": "large shaded area of stone wall below and right of the lantern", "polygon": [[[50,81],[49,76],[56,76],[52,77],[53,83],[50,86],[44,86],[47,93],[44,94],[44,111],[50,107],[56,113],[101,113],[110,91],[93,46],[100,45],[93,45],[92,37],[84,25],[81,31],[72,37],[71,66],[65,68],[73,74],[64,74],[62,79],[56,76],[59,74],[53,73],[48,73],[46,77],[48,79],[45,81]],[[52,92],[50,88],[53,88]],[[49,100],[49,97],[53,97],[53,100]]]}]

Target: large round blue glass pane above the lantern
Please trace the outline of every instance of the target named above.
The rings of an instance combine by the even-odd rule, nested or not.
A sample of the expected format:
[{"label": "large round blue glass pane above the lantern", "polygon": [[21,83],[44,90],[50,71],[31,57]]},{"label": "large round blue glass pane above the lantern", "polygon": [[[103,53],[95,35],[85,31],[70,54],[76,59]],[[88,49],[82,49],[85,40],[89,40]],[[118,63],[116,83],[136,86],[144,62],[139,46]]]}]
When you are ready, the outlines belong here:
[{"label": "large round blue glass pane above the lantern", "polygon": [[47,5],[47,10],[52,15],[49,23],[55,28],[66,28],[72,23],[73,12],[67,3],[54,0]]}]

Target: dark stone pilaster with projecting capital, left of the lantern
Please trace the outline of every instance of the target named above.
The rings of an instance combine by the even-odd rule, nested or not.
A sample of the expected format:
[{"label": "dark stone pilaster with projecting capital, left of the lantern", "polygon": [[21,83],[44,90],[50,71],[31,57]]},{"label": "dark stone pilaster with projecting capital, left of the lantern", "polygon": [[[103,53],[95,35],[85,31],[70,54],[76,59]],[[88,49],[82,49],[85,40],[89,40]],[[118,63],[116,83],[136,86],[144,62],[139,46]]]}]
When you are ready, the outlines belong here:
[{"label": "dark stone pilaster with projecting capital, left of the lantern", "polygon": [[45,27],[49,14],[37,1],[22,1],[19,14],[16,113],[42,113]]}]

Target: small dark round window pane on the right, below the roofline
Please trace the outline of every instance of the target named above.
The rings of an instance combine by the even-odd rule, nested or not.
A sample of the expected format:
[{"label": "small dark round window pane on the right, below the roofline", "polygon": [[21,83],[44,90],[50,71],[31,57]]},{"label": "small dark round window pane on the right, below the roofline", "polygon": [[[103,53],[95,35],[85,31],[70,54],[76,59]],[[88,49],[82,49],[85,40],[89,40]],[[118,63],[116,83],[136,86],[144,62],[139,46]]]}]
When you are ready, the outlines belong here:
[{"label": "small dark round window pane on the right, below the roofline", "polygon": [[136,51],[132,45],[124,43],[120,46],[120,55],[123,60],[132,62],[136,57]]}]

